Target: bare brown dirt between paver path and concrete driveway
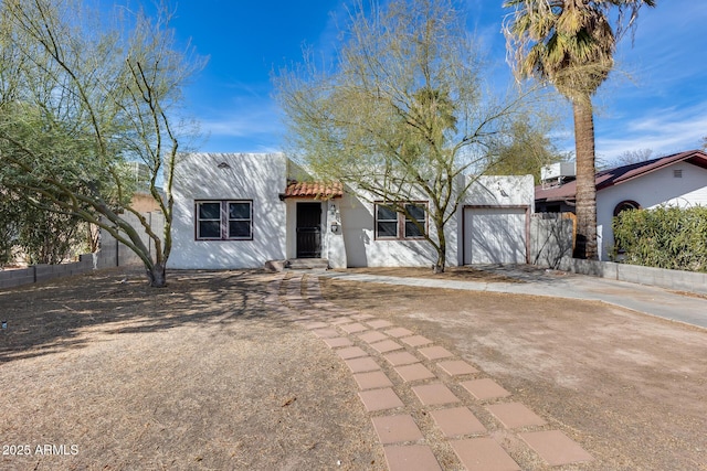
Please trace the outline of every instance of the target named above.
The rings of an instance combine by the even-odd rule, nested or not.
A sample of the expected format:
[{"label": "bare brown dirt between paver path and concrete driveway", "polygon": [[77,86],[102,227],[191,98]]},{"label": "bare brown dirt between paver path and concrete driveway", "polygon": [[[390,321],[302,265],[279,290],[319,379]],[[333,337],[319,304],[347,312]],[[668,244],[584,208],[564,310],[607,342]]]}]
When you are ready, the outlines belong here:
[{"label": "bare brown dirt between paver path and concrete driveway", "polygon": [[578,469],[707,470],[704,329],[544,297],[330,279],[323,293],[478,366],[595,458]]}]

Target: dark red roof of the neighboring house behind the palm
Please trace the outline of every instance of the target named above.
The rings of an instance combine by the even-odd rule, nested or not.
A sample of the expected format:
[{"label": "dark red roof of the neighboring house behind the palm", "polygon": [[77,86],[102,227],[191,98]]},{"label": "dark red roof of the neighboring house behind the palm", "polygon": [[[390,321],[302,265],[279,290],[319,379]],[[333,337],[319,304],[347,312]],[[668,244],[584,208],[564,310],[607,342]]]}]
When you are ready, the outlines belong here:
[{"label": "dark red roof of the neighboring house behind the palm", "polygon": [[[618,185],[646,173],[664,169],[674,163],[689,162],[694,165],[707,169],[707,153],[701,150],[688,150],[686,152],[674,153],[671,156],[659,157],[645,162],[632,163],[630,165],[616,167],[615,169],[602,170],[597,172],[595,183],[597,191],[609,186]],[[577,195],[577,181],[572,180],[558,186],[542,188],[536,186],[536,201],[564,201],[574,200]]]}]

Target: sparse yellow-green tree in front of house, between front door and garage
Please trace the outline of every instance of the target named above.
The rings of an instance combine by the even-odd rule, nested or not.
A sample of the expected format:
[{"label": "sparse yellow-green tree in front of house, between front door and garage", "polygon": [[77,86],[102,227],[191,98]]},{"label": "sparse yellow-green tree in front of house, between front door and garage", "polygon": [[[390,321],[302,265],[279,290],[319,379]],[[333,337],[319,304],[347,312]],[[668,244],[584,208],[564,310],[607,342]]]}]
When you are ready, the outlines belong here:
[{"label": "sparse yellow-green tree in front of house, between front door and garage", "polygon": [[[331,67],[308,51],[275,77],[292,154],[404,214],[444,271],[446,223],[527,109],[518,95],[489,93],[483,52],[452,0],[360,1],[342,38]],[[429,206],[410,204],[420,200]]]}]

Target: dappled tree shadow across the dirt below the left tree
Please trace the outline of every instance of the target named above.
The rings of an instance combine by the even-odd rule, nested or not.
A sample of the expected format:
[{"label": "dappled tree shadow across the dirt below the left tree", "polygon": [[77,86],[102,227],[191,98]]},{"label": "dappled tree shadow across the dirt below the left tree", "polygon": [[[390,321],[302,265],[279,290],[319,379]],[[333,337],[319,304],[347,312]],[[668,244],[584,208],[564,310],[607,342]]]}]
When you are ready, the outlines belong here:
[{"label": "dappled tree shadow across the dirt below the left tree", "polygon": [[0,291],[0,364],[82,349],[110,335],[183,325],[277,321],[263,303],[273,275],[262,270],[170,271],[167,288],[123,268]]}]

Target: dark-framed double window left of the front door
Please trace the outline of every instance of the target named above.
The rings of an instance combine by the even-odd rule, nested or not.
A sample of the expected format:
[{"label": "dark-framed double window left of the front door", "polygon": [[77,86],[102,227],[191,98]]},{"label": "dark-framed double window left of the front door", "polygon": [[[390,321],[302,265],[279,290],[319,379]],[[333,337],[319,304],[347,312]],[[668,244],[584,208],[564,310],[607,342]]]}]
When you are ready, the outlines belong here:
[{"label": "dark-framed double window left of the front door", "polygon": [[198,201],[198,240],[251,240],[252,201]]}]

